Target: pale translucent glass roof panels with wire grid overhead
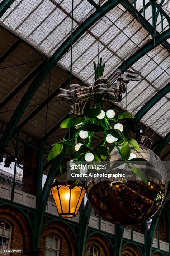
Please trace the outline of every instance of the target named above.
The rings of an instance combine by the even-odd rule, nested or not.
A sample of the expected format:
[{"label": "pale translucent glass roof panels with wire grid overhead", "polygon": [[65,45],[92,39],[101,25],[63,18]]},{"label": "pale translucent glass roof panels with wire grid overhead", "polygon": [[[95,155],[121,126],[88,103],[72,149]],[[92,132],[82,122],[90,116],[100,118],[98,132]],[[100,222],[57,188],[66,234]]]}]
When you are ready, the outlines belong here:
[{"label": "pale translucent glass roof panels with wire grid overhead", "polygon": [[[101,8],[107,2],[109,1],[100,1]],[[145,8],[143,0],[135,1],[136,9],[133,7],[133,1],[124,0],[120,4],[119,2],[100,19],[99,51],[100,57],[106,63],[104,75],[109,76],[118,68],[123,72],[126,68],[141,72],[143,80],[127,84],[127,94],[123,95],[122,102],[115,103],[122,109],[137,114],[151,97],[157,95],[169,83],[167,35],[166,40],[160,40],[155,47],[148,48],[145,54],[140,54],[135,59],[135,54],[141,49],[144,50],[152,39],[157,40],[159,33],[161,35],[168,31],[169,1],[163,1],[155,34],[151,33],[153,20],[148,0],[144,1]],[[160,4],[161,0],[157,0],[157,3]],[[95,13],[98,4],[97,0],[74,0],[74,31]],[[62,47],[71,33],[71,8],[71,1],[66,0],[15,0],[1,17],[0,24],[49,59]],[[132,13],[133,9],[139,12]],[[133,64],[127,66],[131,57],[134,58]],[[98,21],[74,42],[73,74],[83,83],[93,84],[93,61],[97,61],[97,58]],[[70,49],[60,58],[57,65],[66,71],[70,70]],[[143,124],[154,129],[162,137],[169,132],[169,96],[170,93],[165,94],[141,119]],[[67,108],[67,104],[64,104]]]}]

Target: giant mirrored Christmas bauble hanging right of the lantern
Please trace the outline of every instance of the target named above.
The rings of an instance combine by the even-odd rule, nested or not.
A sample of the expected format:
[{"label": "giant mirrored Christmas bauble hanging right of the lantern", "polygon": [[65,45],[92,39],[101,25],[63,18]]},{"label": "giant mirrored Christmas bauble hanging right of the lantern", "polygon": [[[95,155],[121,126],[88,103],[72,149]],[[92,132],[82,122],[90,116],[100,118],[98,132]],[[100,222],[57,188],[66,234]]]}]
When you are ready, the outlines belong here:
[{"label": "giant mirrored Christmas bauble hanging right of the lantern", "polygon": [[[140,141],[143,145],[152,144],[150,139],[144,136]],[[142,180],[127,179],[86,181],[86,194],[91,207],[100,217],[114,224],[132,226],[147,221],[160,209],[164,201],[167,191],[166,170],[160,158],[143,145],[140,145],[139,150],[131,149],[131,153],[151,164],[142,166],[150,173],[148,185]],[[117,149],[114,149],[110,156],[111,166],[121,159]],[[128,171],[128,167],[123,167]]]}]

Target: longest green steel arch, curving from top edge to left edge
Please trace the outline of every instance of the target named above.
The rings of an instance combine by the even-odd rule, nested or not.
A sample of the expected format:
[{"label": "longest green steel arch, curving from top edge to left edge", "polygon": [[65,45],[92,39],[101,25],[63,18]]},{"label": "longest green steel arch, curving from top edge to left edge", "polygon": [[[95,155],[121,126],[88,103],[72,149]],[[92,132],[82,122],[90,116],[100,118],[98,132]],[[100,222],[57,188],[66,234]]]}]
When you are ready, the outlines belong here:
[{"label": "longest green steel arch, curving from top edge to left edge", "polygon": [[[107,1],[104,5],[101,6],[100,10],[96,10],[93,14],[91,14],[81,25],[76,28],[73,32],[72,43],[74,44],[77,39],[80,38],[81,35],[84,34],[92,25],[98,21],[99,18],[103,17],[107,12],[112,10],[116,5],[121,3],[122,0],[112,0]],[[25,92],[22,100],[16,107],[14,114],[12,115],[5,132],[0,141],[0,149],[8,146],[10,137],[12,136],[16,125],[18,124],[22,114],[24,113],[25,108],[29,104],[30,100],[34,96],[34,93],[37,91],[43,80],[46,78],[48,73],[52,70],[52,68],[56,65],[56,63],[62,58],[62,56],[69,50],[71,47],[71,35],[63,42],[63,44],[56,50],[53,54],[52,58],[47,61],[42,70],[33,80],[32,84],[29,86],[27,92]]]}]

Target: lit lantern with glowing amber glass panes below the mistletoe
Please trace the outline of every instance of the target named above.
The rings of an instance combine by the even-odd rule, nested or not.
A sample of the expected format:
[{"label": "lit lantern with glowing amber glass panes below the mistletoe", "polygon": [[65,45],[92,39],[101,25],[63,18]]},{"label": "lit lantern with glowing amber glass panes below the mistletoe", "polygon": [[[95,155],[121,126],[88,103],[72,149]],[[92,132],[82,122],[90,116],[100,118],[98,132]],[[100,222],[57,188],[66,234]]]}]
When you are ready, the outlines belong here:
[{"label": "lit lantern with glowing amber glass panes below the mistletoe", "polygon": [[82,183],[72,188],[71,184],[67,182],[66,175],[67,173],[63,173],[58,176],[59,178],[57,177],[55,182],[50,185],[50,189],[59,216],[72,218],[76,216],[86,190]]}]

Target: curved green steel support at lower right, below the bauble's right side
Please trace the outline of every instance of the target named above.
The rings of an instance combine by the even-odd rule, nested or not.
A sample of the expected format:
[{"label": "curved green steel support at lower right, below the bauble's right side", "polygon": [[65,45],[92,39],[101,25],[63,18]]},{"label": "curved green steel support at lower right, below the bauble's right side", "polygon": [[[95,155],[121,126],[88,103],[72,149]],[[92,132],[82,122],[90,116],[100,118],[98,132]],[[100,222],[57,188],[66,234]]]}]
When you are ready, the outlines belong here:
[{"label": "curved green steel support at lower right, below the bauble's right side", "polygon": [[166,199],[169,197],[169,194],[170,194],[170,182],[168,184],[168,189],[167,189],[167,193],[166,193],[164,202],[163,202],[160,210],[154,215],[154,217],[152,219],[152,222],[151,222],[150,229],[148,230],[148,233],[147,233],[147,238],[146,238],[146,250],[147,250],[147,252],[146,252],[146,255],[152,255],[151,252],[152,252],[152,241],[154,239],[154,233],[155,233],[157,224],[159,222],[161,212],[162,212],[162,210],[165,206]]}]

